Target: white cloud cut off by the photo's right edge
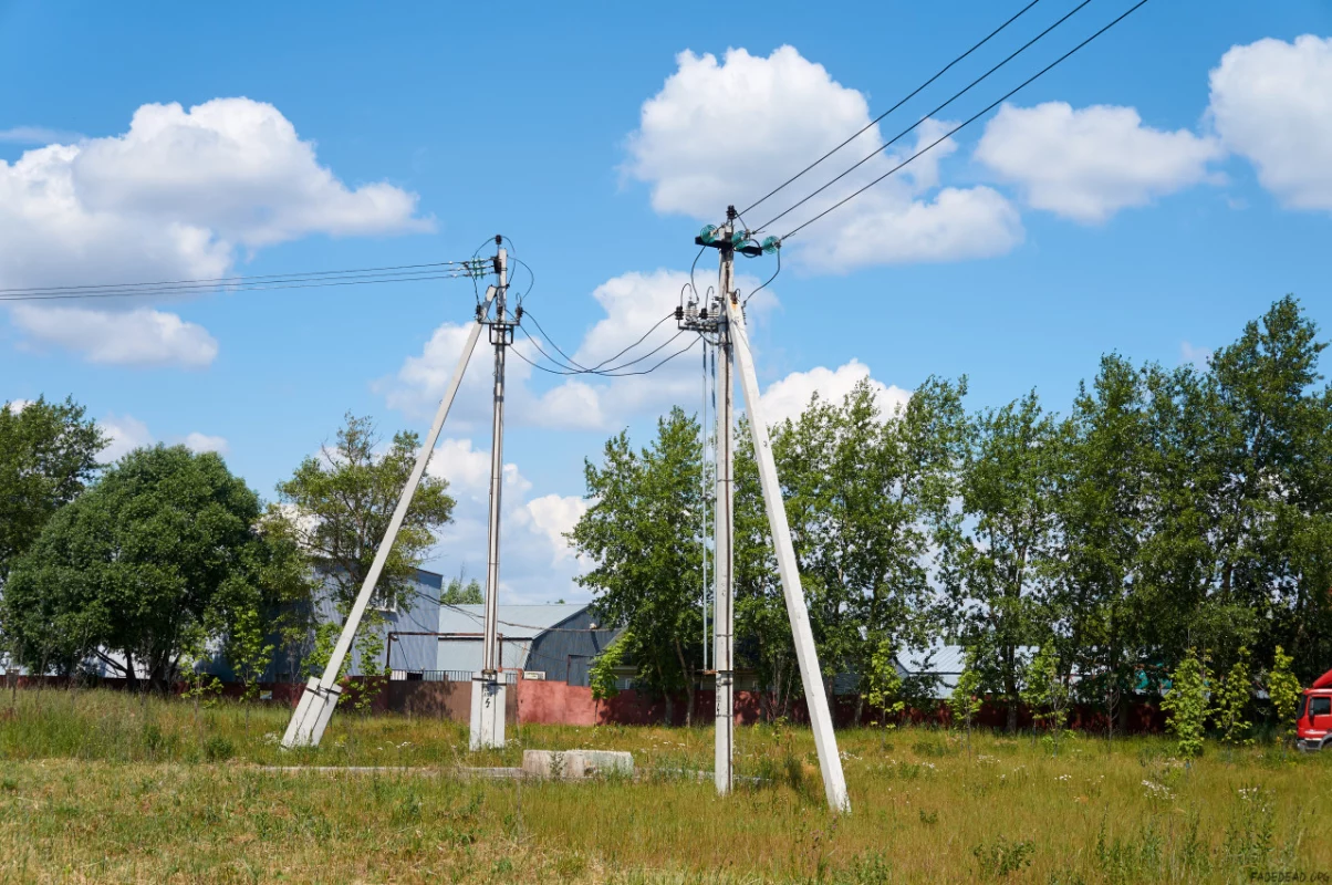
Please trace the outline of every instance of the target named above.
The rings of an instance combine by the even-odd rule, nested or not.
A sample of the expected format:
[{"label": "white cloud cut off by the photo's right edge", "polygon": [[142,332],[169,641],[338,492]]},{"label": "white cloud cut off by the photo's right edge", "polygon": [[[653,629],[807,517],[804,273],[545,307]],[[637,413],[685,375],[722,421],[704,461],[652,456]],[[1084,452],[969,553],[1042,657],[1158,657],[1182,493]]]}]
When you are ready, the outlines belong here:
[{"label": "white cloud cut off by the photo's right edge", "polygon": [[1332,37],[1233,47],[1209,80],[1216,132],[1263,187],[1293,209],[1332,209]]}]

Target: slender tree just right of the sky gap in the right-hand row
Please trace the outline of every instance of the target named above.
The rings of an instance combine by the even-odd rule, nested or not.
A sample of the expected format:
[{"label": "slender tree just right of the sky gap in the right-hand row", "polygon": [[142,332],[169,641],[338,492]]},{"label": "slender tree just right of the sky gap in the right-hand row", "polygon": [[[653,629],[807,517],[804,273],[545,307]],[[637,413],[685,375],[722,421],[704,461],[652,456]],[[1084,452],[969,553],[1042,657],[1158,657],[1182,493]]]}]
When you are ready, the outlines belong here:
[{"label": "slender tree just right of the sky gap in the right-hand row", "polygon": [[944,585],[982,684],[1008,706],[1018,728],[1026,661],[1022,646],[1048,632],[1047,568],[1055,549],[1055,488],[1062,436],[1035,393],[975,420],[962,474],[958,530],[943,550]]}]

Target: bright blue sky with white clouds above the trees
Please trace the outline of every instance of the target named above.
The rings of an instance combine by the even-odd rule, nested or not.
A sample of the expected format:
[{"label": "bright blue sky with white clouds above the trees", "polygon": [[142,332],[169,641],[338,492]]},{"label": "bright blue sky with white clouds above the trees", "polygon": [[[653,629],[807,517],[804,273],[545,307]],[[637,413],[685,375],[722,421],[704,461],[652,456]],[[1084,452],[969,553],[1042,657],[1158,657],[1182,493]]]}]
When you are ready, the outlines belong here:
[{"label": "bright blue sky with white clouds above the trees", "polygon": [[[880,133],[1072,5],[1042,0]],[[1127,5],[1092,0],[938,120],[966,119]],[[0,1],[0,288],[437,261],[502,232],[535,271],[527,305],[551,336],[606,356],[673,303],[693,236],[727,200],[813,160],[1018,7]],[[1000,120],[811,225],[753,312],[773,409],[864,371],[886,404],[967,375],[972,407],[1036,388],[1063,409],[1102,353],[1196,359],[1287,292],[1332,324],[1328,37],[1325,3],[1152,0]],[[181,140],[198,132],[224,148]],[[852,147],[830,173],[872,145]],[[0,400],[73,395],[123,445],[224,446],[270,496],[348,409],[424,431],[472,305],[465,281],[434,281],[11,308]],[[461,505],[433,564],[473,574],[480,356],[436,458]],[[506,440],[505,588],[573,598],[578,565],[557,538],[583,457],[619,427],[646,437],[670,403],[697,408],[697,352],[605,388],[526,375]]]}]

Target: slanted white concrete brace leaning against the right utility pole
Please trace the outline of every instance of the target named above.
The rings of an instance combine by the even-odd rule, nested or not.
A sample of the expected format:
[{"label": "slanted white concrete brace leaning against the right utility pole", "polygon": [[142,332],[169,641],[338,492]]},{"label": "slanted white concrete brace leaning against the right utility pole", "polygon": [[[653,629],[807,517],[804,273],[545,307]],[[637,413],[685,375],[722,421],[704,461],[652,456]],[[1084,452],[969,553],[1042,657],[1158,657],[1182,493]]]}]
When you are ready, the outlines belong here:
[{"label": "slanted white concrete brace leaning against the right utility pole", "polygon": [[786,597],[786,613],[791,618],[795,657],[801,665],[805,700],[810,708],[814,746],[818,749],[819,769],[823,773],[823,792],[827,794],[829,806],[834,812],[850,812],[851,800],[846,793],[842,757],[838,756],[836,737],[832,734],[832,714],[829,710],[827,694],[823,690],[823,673],[819,669],[819,656],[814,646],[814,632],[810,629],[810,612],[805,605],[801,572],[795,564],[791,526],[786,521],[786,504],[782,501],[782,486],[777,478],[773,444],[769,440],[763,416],[759,413],[758,375],[754,372],[754,355],[749,345],[745,315],[734,293],[723,292],[722,300],[725,301],[726,315],[730,320],[731,349],[735,352],[735,364],[741,375],[741,388],[745,392],[745,409],[749,413],[750,436],[754,441],[754,460],[758,461],[758,476],[763,486],[763,504],[767,508],[767,521],[773,529],[773,546],[777,550],[777,568],[782,576],[782,594]]}]

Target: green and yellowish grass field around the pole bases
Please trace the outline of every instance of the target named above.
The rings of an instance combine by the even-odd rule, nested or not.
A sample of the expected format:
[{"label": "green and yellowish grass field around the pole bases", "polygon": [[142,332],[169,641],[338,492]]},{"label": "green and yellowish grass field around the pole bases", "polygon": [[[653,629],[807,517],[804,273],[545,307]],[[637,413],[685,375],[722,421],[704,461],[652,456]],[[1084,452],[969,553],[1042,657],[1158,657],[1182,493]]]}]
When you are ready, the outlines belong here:
[{"label": "green and yellowish grass field around the pole bases", "polygon": [[[852,814],[823,804],[811,736],[739,730],[721,800],[710,729],[466,729],[338,713],[284,752],[284,709],[109,692],[0,697],[0,881],[1138,882],[1332,881],[1332,754],[1279,746],[1184,765],[1163,738],[839,732]],[[522,749],[634,753],[641,777],[481,781]],[[265,765],[401,766],[380,774]]]}]

